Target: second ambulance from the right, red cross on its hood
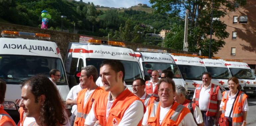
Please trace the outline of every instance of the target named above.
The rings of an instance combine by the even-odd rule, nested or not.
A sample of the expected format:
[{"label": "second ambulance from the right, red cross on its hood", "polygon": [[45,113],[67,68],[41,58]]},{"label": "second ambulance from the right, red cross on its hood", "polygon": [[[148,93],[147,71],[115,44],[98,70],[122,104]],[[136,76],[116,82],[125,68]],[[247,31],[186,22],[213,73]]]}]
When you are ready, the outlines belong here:
[{"label": "second ambulance from the right, red cross on its hood", "polygon": [[206,67],[207,72],[211,73],[211,82],[221,87],[221,91],[228,89],[228,79],[231,78],[229,69],[225,65],[223,60],[214,59],[218,57],[212,57],[212,59],[204,58],[203,63]]}]

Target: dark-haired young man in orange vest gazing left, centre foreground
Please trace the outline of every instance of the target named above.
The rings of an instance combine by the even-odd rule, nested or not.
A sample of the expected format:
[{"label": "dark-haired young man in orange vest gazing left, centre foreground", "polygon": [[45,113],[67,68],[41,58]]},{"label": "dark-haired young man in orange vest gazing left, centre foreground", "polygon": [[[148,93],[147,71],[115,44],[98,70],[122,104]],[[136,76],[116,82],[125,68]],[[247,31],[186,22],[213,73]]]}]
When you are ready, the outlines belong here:
[{"label": "dark-haired young man in orange vest gazing left, centre foreground", "polygon": [[141,126],[146,109],[140,98],[124,86],[123,64],[118,60],[105,60],[100,65],[100,76],[107,93],[95,100],[85,126],[93,126],[97,120],[102,126]]}]

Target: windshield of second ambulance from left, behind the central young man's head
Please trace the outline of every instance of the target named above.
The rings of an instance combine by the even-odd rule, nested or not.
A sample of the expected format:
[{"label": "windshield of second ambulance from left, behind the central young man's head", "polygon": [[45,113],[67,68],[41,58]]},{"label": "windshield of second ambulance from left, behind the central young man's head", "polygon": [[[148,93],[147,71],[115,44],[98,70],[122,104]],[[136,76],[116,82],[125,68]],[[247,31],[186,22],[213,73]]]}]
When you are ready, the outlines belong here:
[{"label": "windshield of second ambulance from left, behind the central young man's head", "polygon": [[[86,58],[86,66],[93,65],[99,71],[100,64],[107,59]],[[138,62],[119,60],[125,69],[124,81],[126,85],[132,85],[134,79],[143,78]]]}]

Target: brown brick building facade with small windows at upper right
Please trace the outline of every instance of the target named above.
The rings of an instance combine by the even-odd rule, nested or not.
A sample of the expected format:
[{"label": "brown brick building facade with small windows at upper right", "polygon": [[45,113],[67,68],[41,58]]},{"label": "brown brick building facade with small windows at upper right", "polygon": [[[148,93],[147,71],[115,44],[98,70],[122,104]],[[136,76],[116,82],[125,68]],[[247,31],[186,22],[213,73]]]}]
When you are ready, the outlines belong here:
[{"label": "brown brick building facade with small windows at upper right", "polygon": [[220,18],[227,25],[229,37],[226,44],[214,56],[222,59],[238,59],[254,71],[256,66],[256,0],[247,0],[243,7],[228,12]]}]

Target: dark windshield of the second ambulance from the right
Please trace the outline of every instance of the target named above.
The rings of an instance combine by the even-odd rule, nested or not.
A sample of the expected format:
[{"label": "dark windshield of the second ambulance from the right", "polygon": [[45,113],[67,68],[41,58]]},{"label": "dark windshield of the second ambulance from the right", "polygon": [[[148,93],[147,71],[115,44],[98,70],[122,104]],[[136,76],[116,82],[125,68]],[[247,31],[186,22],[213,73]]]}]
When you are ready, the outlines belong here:
[{"label": "dark windshield of the second ambulance from the right", "polygon": [[228,68],[225,67],[206,67],[207,72],[210,72],[213,79],[229,79],[231,78]]}]

